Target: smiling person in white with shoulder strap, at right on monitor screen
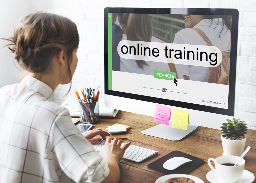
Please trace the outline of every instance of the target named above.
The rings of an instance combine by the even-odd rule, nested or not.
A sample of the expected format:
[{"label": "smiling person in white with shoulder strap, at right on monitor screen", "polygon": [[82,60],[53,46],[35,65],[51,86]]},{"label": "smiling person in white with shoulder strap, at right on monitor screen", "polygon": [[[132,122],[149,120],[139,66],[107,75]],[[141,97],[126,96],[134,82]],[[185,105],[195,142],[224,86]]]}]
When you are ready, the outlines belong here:
[{"label": "smiling person in white with shoulder strap, at right on monitor screen", "polygon": [[[212,44],[218,47],[220,51],[227,50],[231,35],[230,16],[183,15],[183,17],[185,18],[186,29],[182,29],[175,34],[173,43],[207,45],[202,37],[195,30],[191,29],[196,27],[202,30]],[[184,79],[206,82],[209,67],[179,65],[177,72]]]}]

